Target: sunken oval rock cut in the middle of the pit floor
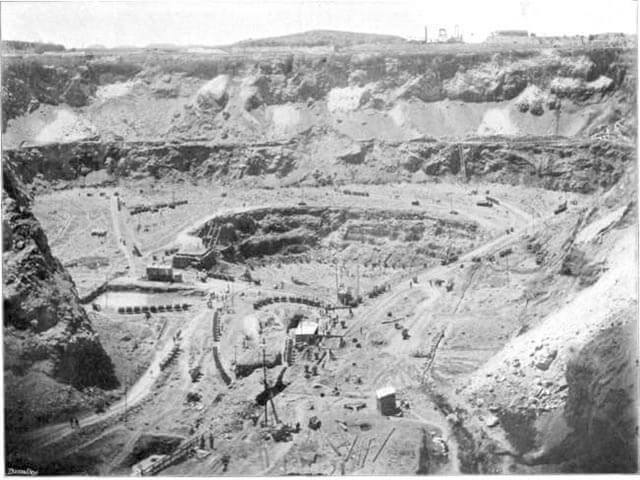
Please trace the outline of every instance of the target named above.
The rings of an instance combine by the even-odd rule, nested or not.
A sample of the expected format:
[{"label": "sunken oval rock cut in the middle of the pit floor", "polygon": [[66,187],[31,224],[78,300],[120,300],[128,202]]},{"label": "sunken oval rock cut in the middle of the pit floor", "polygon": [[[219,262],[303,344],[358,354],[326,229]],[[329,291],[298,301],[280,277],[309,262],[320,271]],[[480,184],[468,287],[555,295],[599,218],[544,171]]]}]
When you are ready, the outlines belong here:
[{"label": "sunken oval rock cut in the middle of the pit floor", "polygon": [[[481,232],[474,222],[444,220],[423,212],[287,207],[219,216],[195,233],[205,244],[217,239],[231,261],[302,253],[331,261],[333,248],[340,251],[357,243],[358,254],[351,260],[399,267],[442,259],[449,247],[460,253]],[[349,252],[344,254],[355,255]]]}]

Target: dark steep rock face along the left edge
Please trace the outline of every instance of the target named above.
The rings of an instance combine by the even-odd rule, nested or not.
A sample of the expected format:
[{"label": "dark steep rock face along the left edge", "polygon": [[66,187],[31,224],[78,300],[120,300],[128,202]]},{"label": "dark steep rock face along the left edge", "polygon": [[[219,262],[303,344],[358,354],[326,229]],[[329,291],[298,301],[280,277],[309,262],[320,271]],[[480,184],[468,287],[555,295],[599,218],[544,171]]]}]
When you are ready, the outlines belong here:
[{"label": "dark steep rock face along the left edge", "polygon": [[[73,396],[73,389],[110,389],[118,381],[9,162],[3,162],[3,177],[5,418],[7,431],[12,431],[55,418],[70,407],[47,403],[49,394]],[[34,376],[47,379],[29,385]],[[47,398],[39,388],[47,389]]]}]

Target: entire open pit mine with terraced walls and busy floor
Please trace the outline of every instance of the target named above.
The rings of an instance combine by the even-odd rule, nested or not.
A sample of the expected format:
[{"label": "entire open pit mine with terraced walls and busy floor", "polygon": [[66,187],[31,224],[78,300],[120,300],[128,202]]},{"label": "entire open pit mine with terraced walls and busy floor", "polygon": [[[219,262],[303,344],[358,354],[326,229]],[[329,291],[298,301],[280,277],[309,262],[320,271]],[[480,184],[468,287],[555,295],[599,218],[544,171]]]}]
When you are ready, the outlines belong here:
[{"label": "entire open pit mine with terraced walls and busy floor", "polygon": [[637,470],[635,38],[47,48],[3,44],[7,472]]}]

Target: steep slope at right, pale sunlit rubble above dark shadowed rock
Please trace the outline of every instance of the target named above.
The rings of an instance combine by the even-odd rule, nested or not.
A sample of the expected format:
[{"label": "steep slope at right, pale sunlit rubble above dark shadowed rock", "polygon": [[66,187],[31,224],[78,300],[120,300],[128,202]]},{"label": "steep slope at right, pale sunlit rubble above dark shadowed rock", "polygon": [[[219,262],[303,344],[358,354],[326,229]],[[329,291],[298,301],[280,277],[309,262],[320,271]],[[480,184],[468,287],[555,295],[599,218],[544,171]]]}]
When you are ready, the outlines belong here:
[{"label": "steep slope at right, pale sunlit rubble above dark shadowed rock", "polygon": [[619,188],[631,178],[629,168],[601,210],[571,227],[558,253],[580,268],[558,261],[545,274],[546,285],[574,277],[553,288],[563,301],[461,387],[476,416],[495,412],[499,427],[489,426],[505,432],[524,472],[637,471],[637,210],[635,193]]}]

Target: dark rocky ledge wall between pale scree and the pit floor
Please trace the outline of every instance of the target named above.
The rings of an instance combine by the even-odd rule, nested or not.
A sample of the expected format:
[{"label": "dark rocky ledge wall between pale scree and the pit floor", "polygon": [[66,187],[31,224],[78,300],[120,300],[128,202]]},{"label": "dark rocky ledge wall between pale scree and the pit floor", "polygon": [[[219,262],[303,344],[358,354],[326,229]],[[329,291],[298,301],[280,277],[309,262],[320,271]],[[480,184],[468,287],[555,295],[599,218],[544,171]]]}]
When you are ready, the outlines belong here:
[{"label": "dark rocky ledge wall between pale scree and the pit floor", "polygon": [[325,185],[351,181],[357,168],[365,183],[397,181],[398,175],[409,181],[456,176],[582,193],[614,185],[633,160],[631,147],[606,140],[369,143],[359,152],[355,164],[352,156],[338,155],[324,168],[304,145],[290,143],[74,142],[7,150],[5,157],[36,186],[85,185],[97,177],[103,182],[176,176],[228,181],[265,175]]}]

